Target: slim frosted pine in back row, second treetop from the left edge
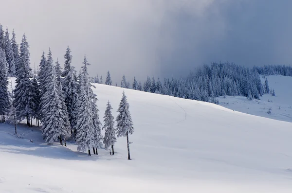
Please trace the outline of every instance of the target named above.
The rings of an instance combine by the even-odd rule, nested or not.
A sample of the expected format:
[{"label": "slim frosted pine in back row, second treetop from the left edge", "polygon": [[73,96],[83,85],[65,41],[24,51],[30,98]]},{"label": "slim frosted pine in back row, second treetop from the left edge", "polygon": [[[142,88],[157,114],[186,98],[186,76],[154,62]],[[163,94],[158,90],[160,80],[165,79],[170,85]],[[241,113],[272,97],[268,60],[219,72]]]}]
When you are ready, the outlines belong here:
[{"label": "slim frosted pine in back row, second treetop from the left edge", "polygon": [[6,54],[6,61],[8,63],[8,74],[10,77],[15,77],[15,59],[12,50],[12,45],[9,39],[8,28],[6,28],[5,36],[4,36],[4,49]]}]

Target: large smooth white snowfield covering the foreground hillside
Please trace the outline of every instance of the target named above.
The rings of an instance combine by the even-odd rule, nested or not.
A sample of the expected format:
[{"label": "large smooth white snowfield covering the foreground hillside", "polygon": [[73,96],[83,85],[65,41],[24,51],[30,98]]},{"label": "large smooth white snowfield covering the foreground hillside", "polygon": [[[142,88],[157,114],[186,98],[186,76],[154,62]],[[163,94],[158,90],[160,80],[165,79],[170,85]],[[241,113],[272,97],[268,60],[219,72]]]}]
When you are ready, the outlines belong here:
[{"label": "large smooth white snowfield covering the foreground hillside", "polygon": [[[95,86],[100,119],[108,100],[116,117],[123,88]],[[114,156],[99,149],[88,157],[73,141],[47,145],[37,127],[19,125],[25,135],[17,139],[12,125],[0,124],[0,193],[292,192],[292,123],[125,92],[135,128],[132,160],[126,138],[118,138]]]}]

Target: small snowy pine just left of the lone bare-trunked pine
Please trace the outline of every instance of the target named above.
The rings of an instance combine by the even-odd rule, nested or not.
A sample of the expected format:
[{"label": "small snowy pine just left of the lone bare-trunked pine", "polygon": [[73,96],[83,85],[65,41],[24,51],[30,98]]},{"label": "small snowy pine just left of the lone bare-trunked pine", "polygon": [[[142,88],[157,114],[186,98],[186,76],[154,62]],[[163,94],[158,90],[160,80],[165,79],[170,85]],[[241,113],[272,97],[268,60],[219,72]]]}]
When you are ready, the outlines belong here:
[{"label": "small snowy pine just left of the lone bare-trunked pine", "polygon": [[114,117],[111,114],[111,105],[110,102],[108,101],[105,116],[104,116],[104,126],[103,129],[105,129],[105,137],[104,137],[104,144],[105,144],[105,149],[108,149],[111,147],[112,149],[112,155],[114,155],[113,151],[113,145],[117,141],[115,137],[115,129],[114,129]]}]

